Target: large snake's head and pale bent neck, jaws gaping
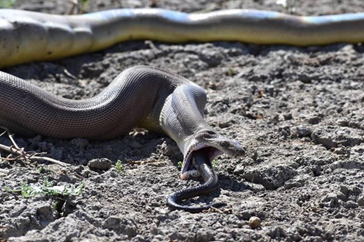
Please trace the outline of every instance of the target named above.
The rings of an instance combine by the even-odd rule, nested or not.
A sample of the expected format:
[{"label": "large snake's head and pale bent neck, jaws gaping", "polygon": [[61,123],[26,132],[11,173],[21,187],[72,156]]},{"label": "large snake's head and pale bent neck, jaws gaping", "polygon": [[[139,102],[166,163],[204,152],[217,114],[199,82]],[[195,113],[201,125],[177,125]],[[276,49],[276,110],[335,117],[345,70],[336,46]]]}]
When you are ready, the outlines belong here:
[{"label": "large snake's head and pale bent neck, jaws gaping", "polygon": [[181,179],[186,179],[194,170],[192,156],[199,149],[207,152],[210,162],[217,155],[226,153],[230,157],[245,155],[241,144],[215,131],[203,119],[206,93],[198,86],[181,85],[167,97],[159,117],[160,127],[178,145],[183,153]]}]

